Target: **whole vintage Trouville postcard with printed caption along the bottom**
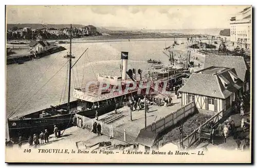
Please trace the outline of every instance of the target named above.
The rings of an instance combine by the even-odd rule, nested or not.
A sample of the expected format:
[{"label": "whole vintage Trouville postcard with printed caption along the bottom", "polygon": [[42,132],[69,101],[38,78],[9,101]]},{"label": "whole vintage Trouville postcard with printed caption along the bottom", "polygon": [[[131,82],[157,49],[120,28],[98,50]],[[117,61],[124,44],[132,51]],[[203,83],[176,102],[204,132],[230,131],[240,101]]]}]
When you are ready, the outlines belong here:
[{"label": "whole vintage Trouville postcard with printed caption along the bottom", "polygon": [[6,6],[6,162],[251,163],[251,6]]}]

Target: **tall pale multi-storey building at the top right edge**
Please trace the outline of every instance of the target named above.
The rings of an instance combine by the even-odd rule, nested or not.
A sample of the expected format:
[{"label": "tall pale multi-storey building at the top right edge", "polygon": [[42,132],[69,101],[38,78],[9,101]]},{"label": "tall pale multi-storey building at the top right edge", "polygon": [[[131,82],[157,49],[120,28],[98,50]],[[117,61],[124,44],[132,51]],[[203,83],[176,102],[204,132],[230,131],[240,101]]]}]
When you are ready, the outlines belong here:
[{"label": "tall pale multi-storey building at the top right edge", "polygon": [[251,44],[251,14],[252,7],[247,7],[243,11],[236,13],[230,19],[230,41],[241,43],[243,46]]}]

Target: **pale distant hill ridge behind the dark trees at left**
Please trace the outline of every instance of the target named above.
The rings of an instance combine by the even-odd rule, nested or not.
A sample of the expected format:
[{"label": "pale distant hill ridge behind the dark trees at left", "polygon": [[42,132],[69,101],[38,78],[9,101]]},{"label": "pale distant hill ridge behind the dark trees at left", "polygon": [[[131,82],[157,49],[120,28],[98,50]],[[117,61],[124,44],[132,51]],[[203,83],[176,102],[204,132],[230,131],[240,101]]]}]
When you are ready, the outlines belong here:
[{"label": "pale distant hill ridge behind the dark trees at left", "polygon": [[[11,29],[13,27],[24,28],[24,27],[31,27],[33,29],[42,29],[42,28],[54,28],[54,29],[61,29],[64,27],[70,27],[70,24],[7,24],[7,29]],[[79,24],[72,24],[72,27],[85,27],[85,25]],[[108,29],[104,27],[97,27],[97,31],[108,31]]]}]

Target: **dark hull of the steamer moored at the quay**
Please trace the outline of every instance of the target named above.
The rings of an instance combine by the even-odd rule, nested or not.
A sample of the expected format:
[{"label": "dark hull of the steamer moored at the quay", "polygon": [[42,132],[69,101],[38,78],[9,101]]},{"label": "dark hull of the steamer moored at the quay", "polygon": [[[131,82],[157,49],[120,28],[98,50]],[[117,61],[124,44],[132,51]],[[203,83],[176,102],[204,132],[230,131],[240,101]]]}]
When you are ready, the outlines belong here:
[{"label": "dark hull of the steamer moored at the quay", "polygon": [[[116,104],[110,104],[105,107],[98,109],[98,115],[109,113],[113,111]],[[46,118],[35,118],[35,119],[10,119],[8,120],[9,127],[9,137],[13,141],[21,136],[23,140],[27,140],[29,136],[34,134],[39,135],[45,129],[48,130],[50,134],[53,134],[53,126],[56,125],[60,130],[64,130],[72,126],[72,117],[75,114],[79,114],[88,118],[94,118],[96,115],[95,109],[80,111],[78,113],[72,113],[67,115],[46,117]]]}]

